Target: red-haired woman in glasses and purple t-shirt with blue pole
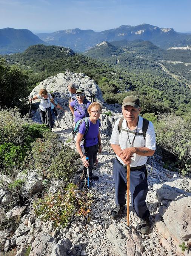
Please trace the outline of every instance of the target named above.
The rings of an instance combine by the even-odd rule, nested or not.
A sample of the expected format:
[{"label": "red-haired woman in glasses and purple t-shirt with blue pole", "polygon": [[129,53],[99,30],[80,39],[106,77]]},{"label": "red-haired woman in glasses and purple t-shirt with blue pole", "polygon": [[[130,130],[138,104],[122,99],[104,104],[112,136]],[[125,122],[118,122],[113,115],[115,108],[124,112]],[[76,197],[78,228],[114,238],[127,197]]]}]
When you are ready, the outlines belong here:
[{"label": "red-haired woman in glasses and purple t-shirt with blue pole", "polygon": [[[80,154],[80,157],[82,159],[83,165],[84,165],[84,174],[85,176],[87,175],[87,169],[89,166],[89,178],[92,180],[94,179],[95,181],[99,179],[98,176],[93,176],[92,175],[92,170],[93,170],[93,165],[95,163],[95,160],[97,158],[97,152],[99,153],[102,152],[102,143],[101,143],[101,137],[100,137],[100,114],[102,111],[102,105],[98,102],[93,102],[91,105],[88,107],[88,113],[89,113],[89,128],[88,132],[86,135],[84,135],[85,130],[86,130],[86,124],[85,121],[82,122],[79,128],[79,132],[77,135],[77,140],[76,140],[76,148],[77,151]],[[80,142],[84,138],[84,149],[85,149],[85,154],[82,152],[82,148],[80,146]],[[86,160],[86,157],[89,157],[89,162]]]}]

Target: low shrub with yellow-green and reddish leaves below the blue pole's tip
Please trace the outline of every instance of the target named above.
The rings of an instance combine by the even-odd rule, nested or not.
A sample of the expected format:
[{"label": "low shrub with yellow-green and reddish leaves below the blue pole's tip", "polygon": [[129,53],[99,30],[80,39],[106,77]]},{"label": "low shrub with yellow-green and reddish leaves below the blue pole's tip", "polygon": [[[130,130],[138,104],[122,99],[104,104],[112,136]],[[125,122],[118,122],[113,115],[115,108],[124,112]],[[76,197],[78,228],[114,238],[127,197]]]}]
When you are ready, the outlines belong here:
[{"label": "low shrub with yellow-green and reddish leaves below the blue pole's tip", "polygon": [[[76,193],[80,194],[76,197]],[[87,217],[92,204],[92,194],[77,190],[77,186],[69,183],[63,192],[46,195],[39,199],[33,206],[35,214],[41,220],[53,221],[55,226],[67,227],[72,217]]]}]

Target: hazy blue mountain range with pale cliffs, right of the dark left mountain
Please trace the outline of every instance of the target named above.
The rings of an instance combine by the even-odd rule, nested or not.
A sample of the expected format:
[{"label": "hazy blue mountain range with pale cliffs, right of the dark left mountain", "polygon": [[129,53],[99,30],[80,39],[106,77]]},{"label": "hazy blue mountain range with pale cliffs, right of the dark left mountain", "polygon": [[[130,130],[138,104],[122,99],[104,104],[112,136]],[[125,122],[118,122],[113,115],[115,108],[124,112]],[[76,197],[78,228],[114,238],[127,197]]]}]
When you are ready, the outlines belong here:
[{"label": "hazy blue mountain range with pale cliffs, right of the dark left mountain", "polygon": [[138,26],[122,25],[118,28],[101,32],[75,28],[37,35],[48,44],[69,47],[75,52],[84,52],[102,41],[112,42],[123,39],[151,41],[163,49],[191,45],[190,34],[178,33],[173,28],[159,28],[149,24]]}]

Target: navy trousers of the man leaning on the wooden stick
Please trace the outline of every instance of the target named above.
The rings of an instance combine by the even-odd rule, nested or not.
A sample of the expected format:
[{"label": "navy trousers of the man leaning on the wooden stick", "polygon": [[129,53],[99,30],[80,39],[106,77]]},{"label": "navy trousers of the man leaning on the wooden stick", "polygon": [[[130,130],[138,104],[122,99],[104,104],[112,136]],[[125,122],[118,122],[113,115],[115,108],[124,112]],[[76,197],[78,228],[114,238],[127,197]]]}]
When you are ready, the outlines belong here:
[{"label": "navy trousers of the man leaning on the wooden stick", "polygon": [[[126,203],[126,175],[127,169],[115,159],[114,165],[114,182],[116,193],[116,204],[124,205]],[[130,192],[131,192],[131,204],[134,208],[137,216],[146,220],[149,216],[149,211],[146,206],[146,195],[148,192],[147,184],[147,170],[146,166],[143,166],[139,170],[130,171]]]}]

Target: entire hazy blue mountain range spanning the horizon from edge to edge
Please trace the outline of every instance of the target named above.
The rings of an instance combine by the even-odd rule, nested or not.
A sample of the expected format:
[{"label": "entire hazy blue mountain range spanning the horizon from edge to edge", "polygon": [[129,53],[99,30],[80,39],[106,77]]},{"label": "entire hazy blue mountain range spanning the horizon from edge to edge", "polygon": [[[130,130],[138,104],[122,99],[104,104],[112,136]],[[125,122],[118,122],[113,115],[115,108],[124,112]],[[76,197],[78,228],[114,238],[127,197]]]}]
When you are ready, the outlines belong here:
[{"label": "entire hazy blue mountain range spanning the horizon from edge to edge", "polygon": [[122,25],[101,32],[75,28],[37,35],[26,29],[3,28],[0,29],[0,53],[23,52],[35,44],[64,46],[74,52],[85,52],[103,41],[120,40],[151,41],[163,49],[191,46],[191,34],[178,33],[173,28],[159,28],[149,24],[134,27]]}]

